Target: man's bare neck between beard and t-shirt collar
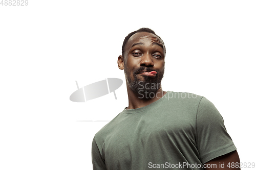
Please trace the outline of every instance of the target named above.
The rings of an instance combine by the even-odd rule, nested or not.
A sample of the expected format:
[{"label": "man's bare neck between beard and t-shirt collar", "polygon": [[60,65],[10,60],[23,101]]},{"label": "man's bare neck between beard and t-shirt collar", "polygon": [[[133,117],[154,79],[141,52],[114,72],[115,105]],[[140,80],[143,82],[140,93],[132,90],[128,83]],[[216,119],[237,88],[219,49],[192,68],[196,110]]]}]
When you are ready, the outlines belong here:
[{"label": "man's bare neck between beard and t-shirt collar", "polygon": [[129,99],[129,106],[126,109],[137,109],[156,102],[157,100],[162,98],[166,91],[163,91],[162,87],[160,87],[154,94],[146,93],[145,95],[141,95],[132,91],[129,85],[127,85],[127,93]]}]

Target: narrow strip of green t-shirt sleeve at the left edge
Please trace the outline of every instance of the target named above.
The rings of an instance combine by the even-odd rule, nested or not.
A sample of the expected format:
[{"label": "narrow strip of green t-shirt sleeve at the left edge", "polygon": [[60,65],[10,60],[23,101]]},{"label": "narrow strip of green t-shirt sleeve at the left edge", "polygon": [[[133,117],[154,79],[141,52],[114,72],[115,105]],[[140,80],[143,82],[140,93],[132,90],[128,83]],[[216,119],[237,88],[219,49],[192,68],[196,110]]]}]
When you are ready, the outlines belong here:
[{"label": "narrow strip of green t-shirt sleeve at the left edge", "polygon": [[95,138],[92,143],[92,163],[94,170],[106,170],[105,161],[101,157]]}]

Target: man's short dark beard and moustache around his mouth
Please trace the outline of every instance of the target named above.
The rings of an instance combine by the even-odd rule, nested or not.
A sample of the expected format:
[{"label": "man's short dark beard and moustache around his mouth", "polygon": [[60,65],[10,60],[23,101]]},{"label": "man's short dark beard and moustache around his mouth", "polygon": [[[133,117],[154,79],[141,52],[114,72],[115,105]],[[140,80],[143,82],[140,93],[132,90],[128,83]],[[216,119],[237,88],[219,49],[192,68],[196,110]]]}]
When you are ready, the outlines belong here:
[{"label": "man's short dark beard and moustache around his mouth", "polygon": [[[148,76],[138,75],[144,71],[157,71],[156,77],[151,78]],[[124,74],[131,90],[137,93],[139,96],[143,96],[142,98],[147,98],[146,96],[151,96],[152,93],[154,93],[155,96],[156,92],[161,88],[161,81],[163,78],[164,69],[161,72],[159,70],[153,70],[152,67],[144,66],[141,66],[134,71],[131,71],[128,68],[124,68]],[[131,74],[133,74],[134,80],[131,79]]]}]

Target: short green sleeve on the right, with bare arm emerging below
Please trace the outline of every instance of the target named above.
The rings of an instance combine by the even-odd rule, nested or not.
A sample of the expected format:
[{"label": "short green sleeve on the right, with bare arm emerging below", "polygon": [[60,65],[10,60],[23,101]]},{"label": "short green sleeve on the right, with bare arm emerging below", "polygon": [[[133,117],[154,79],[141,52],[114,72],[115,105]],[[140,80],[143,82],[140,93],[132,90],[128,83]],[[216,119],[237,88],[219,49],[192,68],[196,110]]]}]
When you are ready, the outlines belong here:
[{"label": "short green sleeve on the right, with bare arm emerging below", "polygon": [[225,155],[237,148],[224,126],[224,120],[214,104],[202,97],[196,119],[197,144],[202,163]]}]

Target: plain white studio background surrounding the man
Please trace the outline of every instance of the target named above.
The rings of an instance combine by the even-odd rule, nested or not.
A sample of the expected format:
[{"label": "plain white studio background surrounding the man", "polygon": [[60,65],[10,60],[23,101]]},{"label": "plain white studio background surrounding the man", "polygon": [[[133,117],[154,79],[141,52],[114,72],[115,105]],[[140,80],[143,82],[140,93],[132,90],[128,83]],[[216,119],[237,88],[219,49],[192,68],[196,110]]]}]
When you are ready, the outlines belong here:
[{"label": "plain white studio background surrounding the man", "polygon": [[[94,134],[128,105],[117,67],[124,37],[142,27],[165,42],[163,89],[214,103],[241,162],[256,162],[255,9],[255,1],[0,5],[0,169],[92,169]],[[75,81],[106,78],[123,80],[117,100],[69,100]]]}]

